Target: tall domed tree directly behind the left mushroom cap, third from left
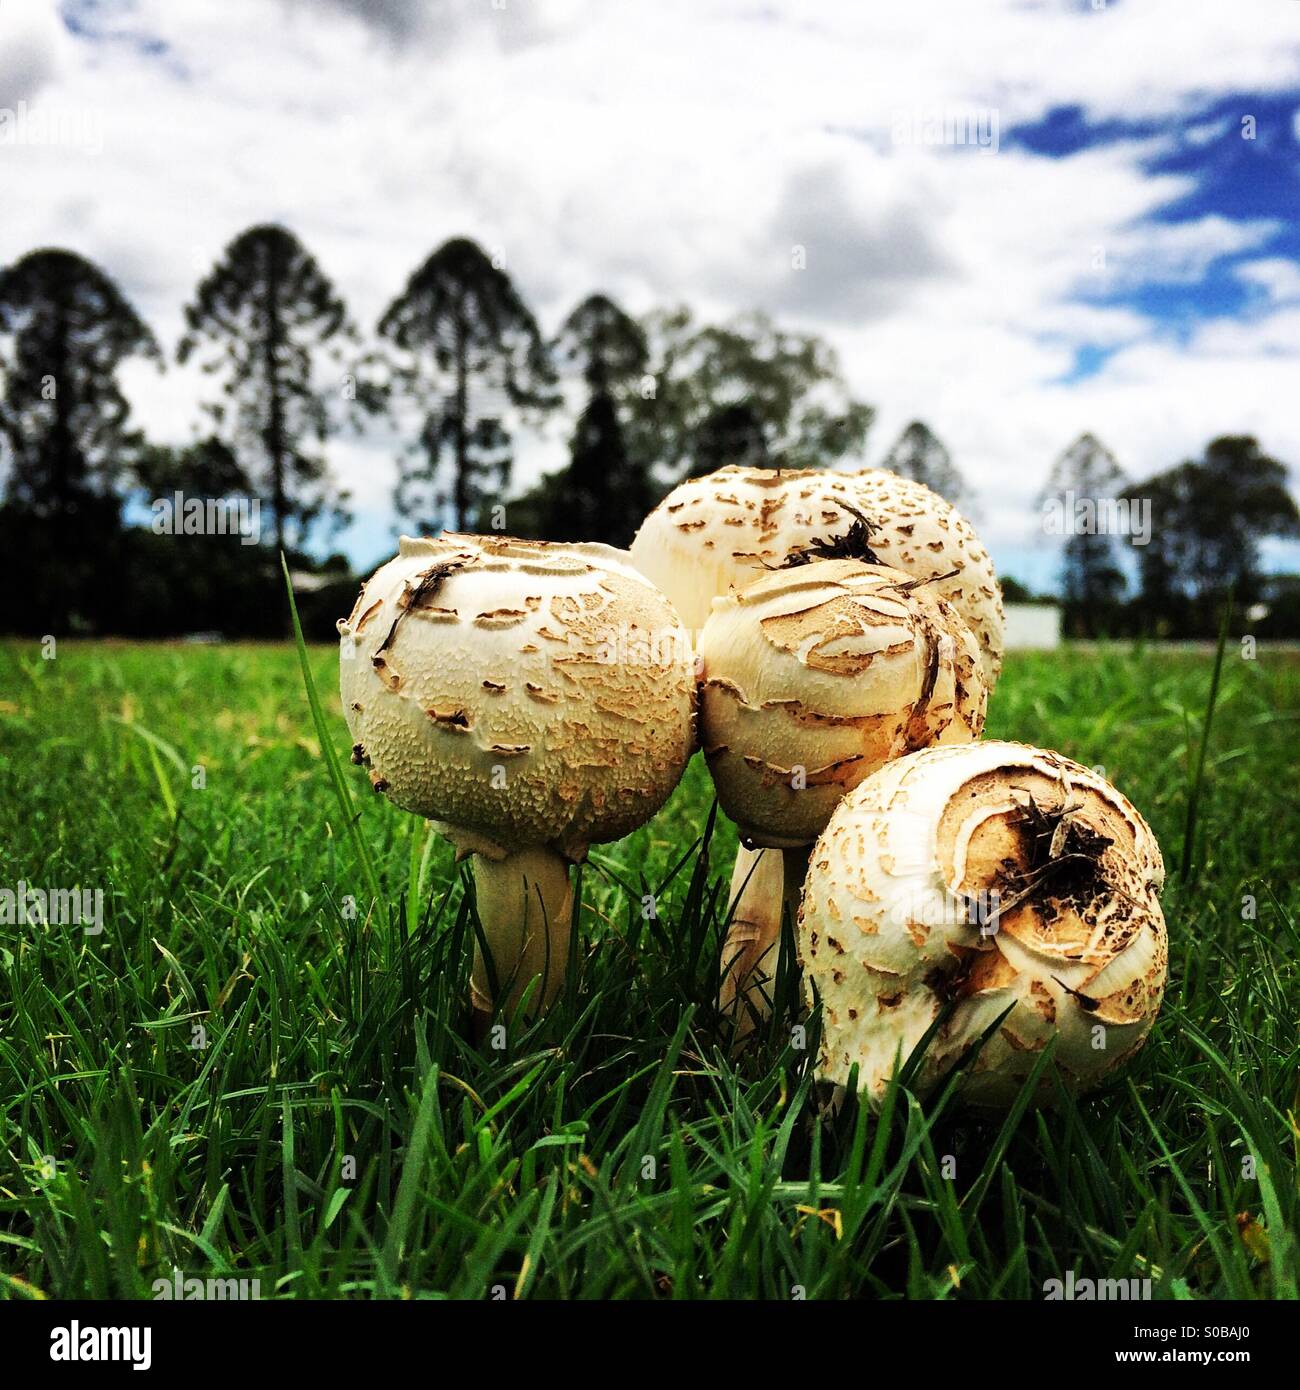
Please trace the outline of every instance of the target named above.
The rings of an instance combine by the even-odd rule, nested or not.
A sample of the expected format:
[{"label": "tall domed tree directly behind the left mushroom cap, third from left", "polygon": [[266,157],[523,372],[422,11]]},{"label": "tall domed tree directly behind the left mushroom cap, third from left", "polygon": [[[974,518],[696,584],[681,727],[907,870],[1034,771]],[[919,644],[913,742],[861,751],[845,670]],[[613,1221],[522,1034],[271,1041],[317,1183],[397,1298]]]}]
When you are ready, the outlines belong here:
[{"label": "tall domed tree directly behind the left mushroom cap, third from left", "polygon": [[510,411],[555,404],[541,331],[510,277],[455,238],[414,271],[380,334],[402,354],[392,386],[424,417],[400,464],[398,512],[421,530],[463,528],[509,482]]}]

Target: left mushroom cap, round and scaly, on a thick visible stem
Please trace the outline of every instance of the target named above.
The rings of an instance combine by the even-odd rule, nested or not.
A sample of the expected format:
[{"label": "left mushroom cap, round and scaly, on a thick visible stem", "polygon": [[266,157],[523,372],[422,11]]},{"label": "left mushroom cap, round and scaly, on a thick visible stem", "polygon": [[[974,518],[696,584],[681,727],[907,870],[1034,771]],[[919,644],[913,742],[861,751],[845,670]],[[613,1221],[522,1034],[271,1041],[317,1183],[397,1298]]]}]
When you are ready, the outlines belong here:
[{"label": "left mushroom cap, round and scaly, on a thick visible stem", "polygon": [[609,546],[403,537],[338,630],[353,760],[463,852],[581,859],[691,755],[688,637]]}]

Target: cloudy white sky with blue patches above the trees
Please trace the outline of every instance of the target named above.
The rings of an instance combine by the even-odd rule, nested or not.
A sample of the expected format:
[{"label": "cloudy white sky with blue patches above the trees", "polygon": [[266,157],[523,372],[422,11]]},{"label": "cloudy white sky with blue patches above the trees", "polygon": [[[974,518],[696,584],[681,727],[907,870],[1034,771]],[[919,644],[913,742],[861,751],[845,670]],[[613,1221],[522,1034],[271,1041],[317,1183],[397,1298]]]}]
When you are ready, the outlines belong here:
[{"label": "cloudy white sky with blue patches above the trees", "polygon": [[[824,336],[877,411],[852,466],[925,420],[1037,588],[1084,430],[1139,480],[1229,432],[1297,477],[1297,0],[0,0],[6,111],[0,263],[93,259],[168,348],[254,222],[367,329],[469,235],[546,332],[602,291]],[[209,381],[124,379],[193,436]],[[516,441],[517,486],[566,436]],[[331,445],[360,567],[400,448]]]}]

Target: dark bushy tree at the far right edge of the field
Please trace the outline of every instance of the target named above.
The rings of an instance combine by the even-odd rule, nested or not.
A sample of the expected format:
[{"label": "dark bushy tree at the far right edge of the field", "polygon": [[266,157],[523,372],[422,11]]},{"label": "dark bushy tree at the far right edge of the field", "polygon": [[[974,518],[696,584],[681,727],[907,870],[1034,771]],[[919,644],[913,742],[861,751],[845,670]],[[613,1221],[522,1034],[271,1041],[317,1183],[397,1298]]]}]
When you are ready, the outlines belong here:
[{"label": "dark bushy tree at the far right edge of the field", "polygon": [[1300,512],[1283,463],[1250,435],[1224,435],[1187,460],[1129,489],[1150,509],[1158,543],[1137,548],[1141,607],[1148,620],[1175,619],[1204,634],[1229,585],[1239,605],[1262,589],[1260,542],[1300,535]]}]

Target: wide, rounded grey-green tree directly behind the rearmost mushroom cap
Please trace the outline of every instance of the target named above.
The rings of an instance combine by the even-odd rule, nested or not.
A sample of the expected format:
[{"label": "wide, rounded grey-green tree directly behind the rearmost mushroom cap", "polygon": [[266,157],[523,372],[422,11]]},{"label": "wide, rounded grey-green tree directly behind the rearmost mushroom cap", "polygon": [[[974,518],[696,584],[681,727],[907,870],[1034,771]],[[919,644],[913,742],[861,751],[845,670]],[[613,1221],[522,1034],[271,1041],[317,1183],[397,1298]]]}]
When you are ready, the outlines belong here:
[{"label": "wide, rounded grey-green tree directly behind the rearmost mushroom cap", "polygon": [[699,327],[690,310],[647,321],[653,389],[631,399],[628,448],[665,484],[726,463],[816,468],[861,452],[875,411],[834,350],[765,314]]}]

